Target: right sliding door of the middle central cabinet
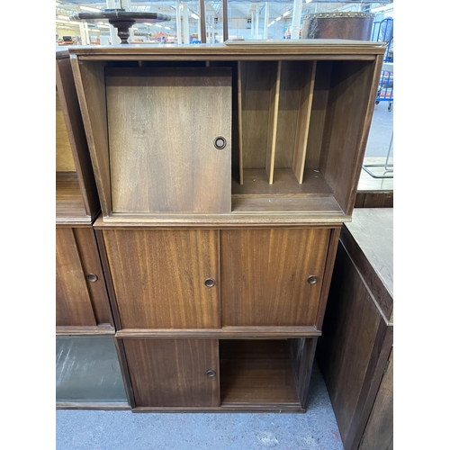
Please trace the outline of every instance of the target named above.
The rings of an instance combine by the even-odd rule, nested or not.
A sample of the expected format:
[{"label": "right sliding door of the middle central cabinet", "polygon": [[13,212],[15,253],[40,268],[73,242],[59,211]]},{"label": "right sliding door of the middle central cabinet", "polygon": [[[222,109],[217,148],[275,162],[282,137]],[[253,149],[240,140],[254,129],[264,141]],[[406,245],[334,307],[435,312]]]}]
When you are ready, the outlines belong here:
[{"label": "right sliding door of the middle central cabinet", "polygon": [[221,230],[222,326],[314,326],[328,245],[329,229]]}]

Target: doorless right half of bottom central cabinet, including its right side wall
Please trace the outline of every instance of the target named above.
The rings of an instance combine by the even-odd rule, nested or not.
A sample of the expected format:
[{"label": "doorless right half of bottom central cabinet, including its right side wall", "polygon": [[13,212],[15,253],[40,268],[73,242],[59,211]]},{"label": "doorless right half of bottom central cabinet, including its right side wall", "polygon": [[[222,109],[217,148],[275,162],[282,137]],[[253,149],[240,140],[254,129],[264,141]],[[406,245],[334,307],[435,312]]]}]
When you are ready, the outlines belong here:
[{"label": "doorless right half of bottom central cabinet, including its right side wall", "polygon": [[220,340],[223,408],[304,411],[315,338]]}]

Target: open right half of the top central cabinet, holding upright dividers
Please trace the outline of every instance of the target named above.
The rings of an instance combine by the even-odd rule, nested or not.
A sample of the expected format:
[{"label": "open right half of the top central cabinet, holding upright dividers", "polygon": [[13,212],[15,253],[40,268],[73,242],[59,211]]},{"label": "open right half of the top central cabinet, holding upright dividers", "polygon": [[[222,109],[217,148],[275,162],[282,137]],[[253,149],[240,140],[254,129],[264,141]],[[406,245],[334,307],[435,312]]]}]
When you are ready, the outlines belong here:
[{"label": "open right half of the top central cabinet, holding upright dividers", "polygon": [[374,69],[373,60],[239,63],[233,211],[351,214]]}]

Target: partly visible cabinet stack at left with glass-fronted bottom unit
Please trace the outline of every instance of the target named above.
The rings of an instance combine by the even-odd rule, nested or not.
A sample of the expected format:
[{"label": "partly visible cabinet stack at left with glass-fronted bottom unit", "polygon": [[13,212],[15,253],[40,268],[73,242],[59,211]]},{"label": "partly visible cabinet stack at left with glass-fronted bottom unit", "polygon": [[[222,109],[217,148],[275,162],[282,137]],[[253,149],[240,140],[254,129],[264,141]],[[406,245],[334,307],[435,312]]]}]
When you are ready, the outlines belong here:
[{"label": "partly visible cabinet stack at left with glass-fronted bottom unit", "polygon": [[124,408],[114,322],[93,228],[100,202],[67,49],[56,52],[55,115],[57,407]]}]

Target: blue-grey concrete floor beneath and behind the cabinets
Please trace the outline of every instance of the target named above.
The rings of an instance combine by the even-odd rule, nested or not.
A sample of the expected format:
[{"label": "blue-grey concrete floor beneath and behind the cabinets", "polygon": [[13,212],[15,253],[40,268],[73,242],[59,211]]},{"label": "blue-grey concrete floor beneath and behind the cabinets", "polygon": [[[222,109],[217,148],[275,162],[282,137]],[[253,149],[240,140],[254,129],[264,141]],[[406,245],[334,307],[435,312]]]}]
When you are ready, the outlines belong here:
[{"label": "blue-grey concrete floor beneath and behind the cabinets", "polygon": [[[385,157],[392,136],[388,103],[374,108],[366,157]],[[393,152],[392,155],[393,156]],[[329,394],[317,365],[305,414],[134,414],[57,410],[57,450],[342,450]]]}]

